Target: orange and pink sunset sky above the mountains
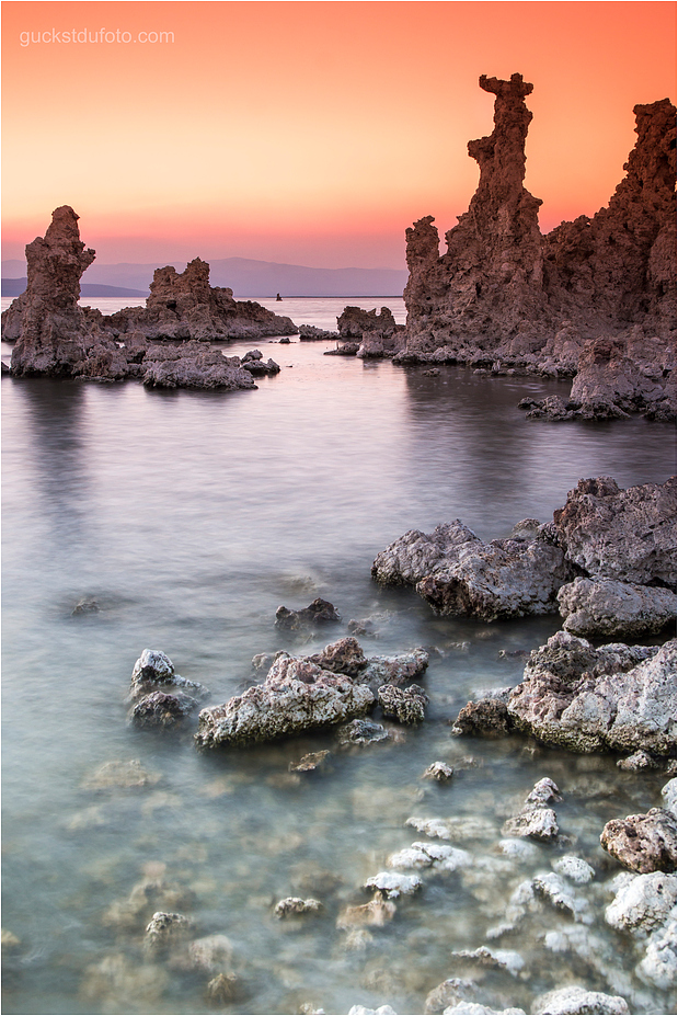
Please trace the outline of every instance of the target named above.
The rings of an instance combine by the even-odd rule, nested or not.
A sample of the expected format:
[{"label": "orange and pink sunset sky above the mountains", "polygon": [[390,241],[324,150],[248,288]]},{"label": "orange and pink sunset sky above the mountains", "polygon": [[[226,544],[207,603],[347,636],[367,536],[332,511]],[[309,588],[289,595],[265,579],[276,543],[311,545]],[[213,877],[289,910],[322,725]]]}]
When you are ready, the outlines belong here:
[{"label": "orange and pink sunset sky above the mountains", "polygon": [[2,2],[2,256],[58,205],[99,263],[403,267],[492,132],[480,75],[535,85],[542,231],[607,204],[636,103],[676,101],[674,2]]}]

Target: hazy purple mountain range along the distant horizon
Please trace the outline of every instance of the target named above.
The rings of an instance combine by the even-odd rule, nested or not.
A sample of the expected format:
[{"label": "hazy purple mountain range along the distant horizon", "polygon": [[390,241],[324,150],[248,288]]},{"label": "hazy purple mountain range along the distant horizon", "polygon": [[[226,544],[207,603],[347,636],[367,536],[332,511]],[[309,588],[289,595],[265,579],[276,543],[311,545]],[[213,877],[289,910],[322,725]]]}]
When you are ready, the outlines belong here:
[{"label": "hazy purple mountain range along the distant horizon", "polygon": [[[172,261],[179,272],[185,261]],[[222,258],[210,263],[212,286],[229,286],[237,299],[280,296],[402,296],[407,272],[402,269],[311,269],[249,258]],[[148,296],[159,264],[92,264],[82,276],[82,296]],[[2,296],[25,288],[25,261],[2,262]],[[22,276],[22,277],[18,277]],[[21,288],[18,288],[21,285]],[[104,292],[105,290],[105,292]]]}]

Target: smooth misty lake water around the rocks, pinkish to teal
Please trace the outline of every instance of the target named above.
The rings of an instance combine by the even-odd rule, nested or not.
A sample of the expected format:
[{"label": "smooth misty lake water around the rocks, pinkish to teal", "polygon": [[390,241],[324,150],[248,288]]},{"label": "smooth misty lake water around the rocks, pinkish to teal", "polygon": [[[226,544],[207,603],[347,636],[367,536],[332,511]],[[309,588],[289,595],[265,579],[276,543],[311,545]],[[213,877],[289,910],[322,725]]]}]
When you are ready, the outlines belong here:
[{"label": "smooth misty lake water around the rocks, pinkish to teal", "polygon": [[[262,302],[325,328],[347,302],[391,306],[404,320],[397,299]],[[520,659],[499,650],[536,648],[558,617],[436,618],[414,592],[370,580],[375,556],[406,529],[459,517],[498,537],[527,516],[549,520],[579,477],[664,481],[675,471],[675,429],[528,421],[521,397],[567,386],[455,367],[426,377],[323,356],[332,345],[260,343],[283,369],[256,391],[2,381],[2,922],[18,939],[3,1013],[215,1011],[205,1000],[212,974],[143,951],[157,910],[191,917],[195,937],[229,939],[223,969],[238,994],[216,1012],[294,1014],[310,1003],[329,1014],[355,1004],[421,1014],[432,989],[469,972],[527,1012],[537,994],[573,982],[624,995],[633,1013],[675,1012],[673,992],[634,975],[642,954],[631,937],[602,920],[621,869],[598,843],[608,819],[660,804],[666,777],[521,739],[450,737],[474,692],[520,680]],[[341,624],[308,641],[276,630],[280,604],[317,596]],[[73,616],[83,597],[100,612]],[[255,653],[314,652],[370,615],[381,617],[379,638],[361,639],[368,655],[438,650],[423,680],[426,722],[402,741],[342,753],[326,732],[198,754],[192,723],[162,737],[126,723],[123,700],[146,647],[166,652],[217,704],[261,678]],[[325,747],[330,772],[290,779],[290,762]],[[156,781],[91,786],[102,764],[129,760]],[[448,785],[422,779],[436,760],[456,767]],[[563,794],[556,813],[570,842],[504,857],[502,824],[543,776]],[[370,899],[364,882],[390,854],[427,838],[405,826],[412,815],[458,820],[453,845],[473,865],[422,871],[423,890],[397,901],[392,921],[352,938],[338,914]],[[589,923],[544,904],[489,939],[514,890],[565,853],[595,868],[593,882],[575,887]],[[289,895],[314,897],[323,911],[278,921],[273,907]],[[584,957],[562,951],[573,928],[595,938]],[[549,932],[563,933],[561,951]],[[525,966],[512,975],[450,957],[483,945],[516,950]]]}]

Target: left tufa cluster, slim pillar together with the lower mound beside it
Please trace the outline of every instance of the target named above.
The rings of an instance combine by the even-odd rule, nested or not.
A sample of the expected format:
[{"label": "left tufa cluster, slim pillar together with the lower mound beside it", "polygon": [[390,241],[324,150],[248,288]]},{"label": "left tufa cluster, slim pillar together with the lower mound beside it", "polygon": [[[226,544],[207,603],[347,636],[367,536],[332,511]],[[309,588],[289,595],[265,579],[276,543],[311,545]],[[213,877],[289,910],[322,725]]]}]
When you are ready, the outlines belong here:
[{"label": "left tufa cluster, slim pillar together with the lower mound beside it", "polygon": [[195,259],[182,274],[159,269],[146,307],[104,316],[78,304],[80,278],[94,256],[69,205],[55,209],[45,236],[26,246],[26,289],[2,315],[2,338],[16,343],[13,377],[137,378],[149,387],[230,390],[255,388],[253,375],[279,372],[256,350],[241,362],[198,344],[296,331],[289,318],[251,300],[238,302],[230,289],[212,288],[206,262]]}]

